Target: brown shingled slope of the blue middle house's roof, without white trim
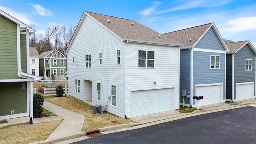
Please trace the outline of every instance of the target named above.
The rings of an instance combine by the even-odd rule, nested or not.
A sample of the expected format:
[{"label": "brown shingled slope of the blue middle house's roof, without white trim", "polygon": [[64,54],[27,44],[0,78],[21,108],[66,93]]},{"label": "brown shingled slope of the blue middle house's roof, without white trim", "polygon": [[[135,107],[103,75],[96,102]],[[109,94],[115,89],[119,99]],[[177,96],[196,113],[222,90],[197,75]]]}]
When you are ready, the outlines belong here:
[{"label": "brown shingled slope of the blue middle house's roof, without white trim", "polygon": [[177,30],[174,32],[168,32],[164,35],[184,44],[185,46],[194,46],[194,44],[196,44],[196,42],[201,38],[201,36],[212,24],[213,23],[209,23],[201,26],[195,26],[192,28],[186,28],[183,30]]}]

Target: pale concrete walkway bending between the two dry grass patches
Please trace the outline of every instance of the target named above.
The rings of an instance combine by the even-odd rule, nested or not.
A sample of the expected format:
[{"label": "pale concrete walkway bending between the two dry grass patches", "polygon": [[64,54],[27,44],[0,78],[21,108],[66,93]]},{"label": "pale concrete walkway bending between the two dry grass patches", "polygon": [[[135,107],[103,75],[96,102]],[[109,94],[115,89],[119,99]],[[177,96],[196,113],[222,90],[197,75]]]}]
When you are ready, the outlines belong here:
[{"label": "pale concrete walkway bending between the two dry grass patches", "polygon": [[[64,119],[45,141],[52,141],[81,133],[85,116],[47,101],[44,101],[43,107]],[[35,118],[34,121],[36,121],[36,119],[37,118]]]}]

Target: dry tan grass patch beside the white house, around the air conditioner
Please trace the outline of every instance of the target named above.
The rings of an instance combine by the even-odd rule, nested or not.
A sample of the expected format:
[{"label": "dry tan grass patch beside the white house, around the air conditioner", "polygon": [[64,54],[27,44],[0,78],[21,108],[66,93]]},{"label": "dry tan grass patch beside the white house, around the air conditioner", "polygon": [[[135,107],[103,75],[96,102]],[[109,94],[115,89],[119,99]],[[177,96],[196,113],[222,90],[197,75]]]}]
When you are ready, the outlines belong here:
[{"label": "dry tan grass patch beside the white house, around the air conditioner", "polygon": [[[54,97],[54,98],[46,98],[45,100],[52,102],[58,106],[76,112],[78,114],[82,114],[85,116],[84,125],[82,127],[82,132],[86,130],[92,130],[95,128],[103,128],[107,126],[116,126],[120,124],[129,124],[135,123],[130,118],[123,119],[109,112],[105,112],[103,114],[93,114],[92,106],[85,104],[80,100],[76,100],[68,97]],[[113,124],[111,121],[117,121],[118,123]]]}]

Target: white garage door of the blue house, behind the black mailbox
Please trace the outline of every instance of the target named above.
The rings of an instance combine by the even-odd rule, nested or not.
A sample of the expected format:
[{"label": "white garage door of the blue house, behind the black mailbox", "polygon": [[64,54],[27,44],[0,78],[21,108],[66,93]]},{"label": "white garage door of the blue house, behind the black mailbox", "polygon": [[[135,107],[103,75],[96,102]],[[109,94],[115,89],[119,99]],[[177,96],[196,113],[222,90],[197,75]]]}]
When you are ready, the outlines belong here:
[{"label": "white garage door of the blue house, behind the black mailbox", "polygon": [[223,95],[222,85],[196,86],[196,95],[197,94],[203,96],[203,99],[199,101],[199,106],[219,103]]}]

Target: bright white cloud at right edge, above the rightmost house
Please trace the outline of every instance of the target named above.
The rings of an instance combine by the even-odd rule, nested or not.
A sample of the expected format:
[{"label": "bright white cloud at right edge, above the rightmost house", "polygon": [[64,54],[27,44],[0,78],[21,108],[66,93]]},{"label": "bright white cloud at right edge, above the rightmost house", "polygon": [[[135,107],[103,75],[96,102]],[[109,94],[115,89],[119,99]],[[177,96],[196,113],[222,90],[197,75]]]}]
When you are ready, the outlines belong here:
[{"label": "bright white cloud at right edge, above the rightmost house", "polygon": [[249,30],[256,30],[256,16],[242,17],[229,20],[226,28],[222,28],[225,32],[244,32]]}]

